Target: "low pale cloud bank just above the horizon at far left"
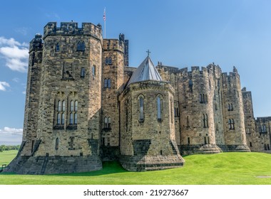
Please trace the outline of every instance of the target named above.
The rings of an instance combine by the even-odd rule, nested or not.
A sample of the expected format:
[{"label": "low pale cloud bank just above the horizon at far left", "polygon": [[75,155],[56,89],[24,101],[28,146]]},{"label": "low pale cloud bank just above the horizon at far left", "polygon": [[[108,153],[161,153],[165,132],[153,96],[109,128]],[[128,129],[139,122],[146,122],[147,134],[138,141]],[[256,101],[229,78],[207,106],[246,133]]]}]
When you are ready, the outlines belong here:
[{"label": "low pale cloud bank just above the horizon at far left", "polygon": [[23,129],[4,127],[0,129],[0,145],[19,145],[23,137]]}]

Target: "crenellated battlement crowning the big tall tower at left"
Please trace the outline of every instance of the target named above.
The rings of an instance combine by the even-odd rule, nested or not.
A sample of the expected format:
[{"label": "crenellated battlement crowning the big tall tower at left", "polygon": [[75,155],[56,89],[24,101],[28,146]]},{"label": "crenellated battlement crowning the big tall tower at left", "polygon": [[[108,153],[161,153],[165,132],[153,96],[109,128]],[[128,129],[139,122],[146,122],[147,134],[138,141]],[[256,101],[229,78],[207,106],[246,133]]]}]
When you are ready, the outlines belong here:
[{"label": "crenellated battlement crowning the big tall tower at left", "polygon": [[56,22],[49,22],[44,26],[44,38],[47,36],[70,36],[70,35],[88,35],[101,39],[103,36],[101,25],[93,23],[82,23],[82,28],[78,28],[76,22],[61,22],[60,27]]}]

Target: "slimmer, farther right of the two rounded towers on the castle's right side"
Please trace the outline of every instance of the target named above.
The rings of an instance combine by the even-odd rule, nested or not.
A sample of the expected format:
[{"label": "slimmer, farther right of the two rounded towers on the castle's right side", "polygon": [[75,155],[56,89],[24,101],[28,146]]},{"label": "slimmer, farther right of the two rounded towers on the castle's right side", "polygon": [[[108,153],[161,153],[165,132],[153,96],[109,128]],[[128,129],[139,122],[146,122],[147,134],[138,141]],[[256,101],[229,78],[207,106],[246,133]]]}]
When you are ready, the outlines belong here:
[{"label": "slimmer, farther right of the two rounded towers on the castle's right side", "polygon": [[223,121],[225,145],[229,151],[250,151],[245,136],[240,76],[236,70],[222,74]]}]

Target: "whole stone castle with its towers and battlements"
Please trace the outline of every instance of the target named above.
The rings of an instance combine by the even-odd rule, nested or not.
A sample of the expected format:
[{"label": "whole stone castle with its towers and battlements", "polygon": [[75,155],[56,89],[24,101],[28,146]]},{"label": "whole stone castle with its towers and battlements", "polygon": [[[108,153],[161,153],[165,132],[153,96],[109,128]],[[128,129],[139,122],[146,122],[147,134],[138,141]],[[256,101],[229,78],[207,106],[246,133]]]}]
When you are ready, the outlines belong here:
[{"label": "whole stone castle with its towers and battlements", "polygon": [[235,67],[155,67],[147,55],[132,68],[123,34],[50,22],[30,43],[23,141],[6,171],[94,171],[110,160],[148,171],[183,166],[180,154],[270,152],[270,122],[254,118]]}]

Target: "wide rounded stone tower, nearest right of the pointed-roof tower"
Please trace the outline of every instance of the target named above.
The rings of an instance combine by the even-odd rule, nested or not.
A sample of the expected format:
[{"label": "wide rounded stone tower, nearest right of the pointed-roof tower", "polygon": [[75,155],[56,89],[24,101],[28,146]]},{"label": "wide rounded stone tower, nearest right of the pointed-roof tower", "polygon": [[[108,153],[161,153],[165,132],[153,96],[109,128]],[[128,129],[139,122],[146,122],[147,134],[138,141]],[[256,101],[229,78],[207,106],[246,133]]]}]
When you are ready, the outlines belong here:
[{"label": "wide rounded stone tower, nearest right of the pointed-roof tower", "polygon": [[180,71],[180,151],[183,154],[220,153],[215,143],[212,68]]}]

